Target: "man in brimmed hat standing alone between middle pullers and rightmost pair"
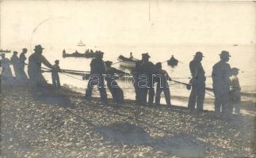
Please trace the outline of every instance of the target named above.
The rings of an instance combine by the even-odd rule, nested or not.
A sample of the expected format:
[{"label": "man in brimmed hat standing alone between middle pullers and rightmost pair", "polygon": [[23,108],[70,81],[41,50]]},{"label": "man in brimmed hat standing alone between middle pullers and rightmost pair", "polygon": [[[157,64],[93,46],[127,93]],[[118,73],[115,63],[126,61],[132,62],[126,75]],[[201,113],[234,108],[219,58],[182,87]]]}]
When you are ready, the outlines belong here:
[{"label": "man in brimmed hat standing alone between middle pullers and rightmost pair", "polygon": [[192,90],[189,96],[189,109],[193,110],[197,104],[197,111],[202,111],[204,106],[205,96],[205,80],[204,68],[201,64],[203,54],[200,51],[196,52],[193,60],[189,63],[189,70],[191,72],[191,80],[189,83],[192,85]]}]

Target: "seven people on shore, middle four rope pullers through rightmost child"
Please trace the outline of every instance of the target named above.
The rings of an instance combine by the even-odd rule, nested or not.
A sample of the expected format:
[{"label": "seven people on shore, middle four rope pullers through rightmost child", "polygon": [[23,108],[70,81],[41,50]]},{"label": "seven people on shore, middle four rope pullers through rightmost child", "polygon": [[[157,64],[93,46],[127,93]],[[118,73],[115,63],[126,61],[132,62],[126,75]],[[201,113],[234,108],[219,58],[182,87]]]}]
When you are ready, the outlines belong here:
[{"label": "seven people on shore, middle four rope pullers through rightmost child", "polygon": [[[132,56],[132,55],[131,55]],[[203,54],[197,51],[193,60],[189,63],[191,80],[189,85],[192,86],[189,95],[189,109],[203,111],[205,96],[204,68],[201,64]],[[241,88],[239,85],[239,69],[232,68],[227,63],[229,61],[228,51],[221,51],[220,62],[212,67],[213,93],[215,96],[215,111],[220,113],[232,113],[235,107],[235,113],[240,113]],[[153,64],[149,61],[151,58],[148,53],[142,54],[141,60],[136,62],[136,68],[132,70],[133,86],[136,92],[136,103],[140,105],[159,105],[161,94],[164,93],[166,104],[171,105],[169,82],[172,81],[166,70],[162,70],[162,62]],[[90,80],[86,89],[86,99],[90,100],[92,88],[97,85],[101,93],[101,102],[106,103],[107,95],[104,82],[107,81],[107,87],[113,96],[113,101],[121,103],[124,101],[124,92],[117,85],[115,76],[126,75],[125,72],[117,70],[111,66],[112,62],[103,61],[103,53],[98,54],[90,64]],[[106,76],[105,76],[106,75]],[[155,91],[156,85],[156,91]]]}]

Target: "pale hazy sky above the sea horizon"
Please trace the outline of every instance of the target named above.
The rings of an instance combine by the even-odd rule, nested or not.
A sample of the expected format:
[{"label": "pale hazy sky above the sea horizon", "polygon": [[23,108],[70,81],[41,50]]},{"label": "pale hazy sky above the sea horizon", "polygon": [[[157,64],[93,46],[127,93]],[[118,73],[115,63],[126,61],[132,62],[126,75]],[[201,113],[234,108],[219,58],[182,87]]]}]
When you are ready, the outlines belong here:
[{"label": "pale hazy sky above the sea horizon", "polygon": [[0,47],[250,44],[256,2],[13,1],[0,6]]}]

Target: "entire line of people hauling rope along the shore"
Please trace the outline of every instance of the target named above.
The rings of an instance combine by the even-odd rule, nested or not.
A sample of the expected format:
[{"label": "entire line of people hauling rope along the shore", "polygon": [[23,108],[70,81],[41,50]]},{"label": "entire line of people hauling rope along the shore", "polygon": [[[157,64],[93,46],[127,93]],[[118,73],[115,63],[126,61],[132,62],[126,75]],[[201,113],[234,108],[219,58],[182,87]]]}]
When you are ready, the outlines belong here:
[{"label": "entire line of people hauling rope along the shore", "polygon": [[[41,64],[47,66],[52,72],[52,85],[54,88],[60,87],[59,82],[59,60],[55,61],[55,65],[52,65],[42,55],[44,48],[41,45],[36,45],[34,52],[29,56],[29,83],[32,87],[32,91],[38,91],[39,88],[45,87],[47,82],[44,79]],[[27,80],[25,73],[25,53],[27,49],[24,48],[21,52],[20,58],[17,57],[17,51],[13,51],[11,60],[2,54],[1,66],[2,66],[2,79],[12,77],[10,70],[10,64],[13,65],[13,70],[17,78]],[[166,104],[171,105],[170,99],[170,87],[169,82],[171,77],[162,70],[162,62],[153,64],[149,59],[151,58],[148,53],[142,54],[142,58],[137,60],[136,68],[131,73],[127,74],[122,70],[118,70],[112,67],[113,62],[103,60],[104,53],[97,52],[96,57],[92,59],[90,63],[90,77],[86,88],[86,100],[91,100],[93,88],[96,86],[100,92],[101,102],[107,103],[107,94],[105,90],[105,81],[109,92],[113,96],[113,102],[124,102],[124,92],[117,83],[117,79],[124,75],[131,75],[133,79],[133,86],[136,93],[136,103],[141,105],[151,105],[154,103],[159,105],[161,94],[164,93]],[[205,96],[205,81],[204,68],[201,64],[203,54],[198,51],[193,57],[193,60],[189,63],[189,69],[191,72],[191,80],[189,85],[192,86],[192,90],[189,96],[189,109],[197,109],[202,111],[204,107]],[[239,69],[232,68],[227,63],[229,61],[228,51],[221,51],[220,62],[217,62],[212,67],[212,87],[215,96],[215,111],[232,113],[233,106],[235,106],[235,112],[240,113],[239,102],[241,100],[239,79],[237,77]],[[131,58],[132,53],[131,53]],[[156,89],[155,89],[156,85]]]}]

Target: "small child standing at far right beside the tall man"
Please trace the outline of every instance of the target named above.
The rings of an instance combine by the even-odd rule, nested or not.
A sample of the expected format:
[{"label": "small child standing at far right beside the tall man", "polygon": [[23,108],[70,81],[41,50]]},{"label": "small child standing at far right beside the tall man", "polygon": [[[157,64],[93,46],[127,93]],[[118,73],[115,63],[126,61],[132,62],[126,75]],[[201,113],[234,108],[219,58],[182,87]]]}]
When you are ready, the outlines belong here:
[{"label": "small child standing at far right beside the tall man", "polygon": [[231,69],[231,109],[235,108],[235,113],[240,114],[240,102],[241,102],[241,88],[239,85],[239,69]]}]

